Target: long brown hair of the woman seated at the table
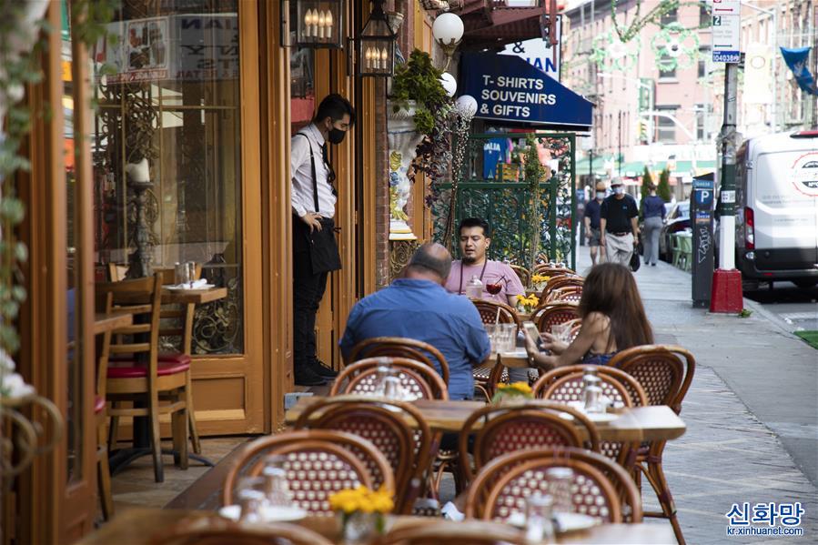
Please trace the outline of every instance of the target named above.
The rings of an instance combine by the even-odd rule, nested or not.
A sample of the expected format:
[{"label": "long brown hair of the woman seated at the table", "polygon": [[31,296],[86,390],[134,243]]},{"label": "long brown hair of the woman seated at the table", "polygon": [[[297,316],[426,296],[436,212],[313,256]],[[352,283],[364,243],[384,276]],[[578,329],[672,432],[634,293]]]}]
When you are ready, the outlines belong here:
[{"label": "long brown hair of the woman seated at the table", "polygon": [[580,318],[591,312],[600,312],[611,320],[611,336],[616,340],[617,350],[653,344],[653,331],[636,281],[631,271],[619,263],[601,263],[591,268],[585,278]]}]

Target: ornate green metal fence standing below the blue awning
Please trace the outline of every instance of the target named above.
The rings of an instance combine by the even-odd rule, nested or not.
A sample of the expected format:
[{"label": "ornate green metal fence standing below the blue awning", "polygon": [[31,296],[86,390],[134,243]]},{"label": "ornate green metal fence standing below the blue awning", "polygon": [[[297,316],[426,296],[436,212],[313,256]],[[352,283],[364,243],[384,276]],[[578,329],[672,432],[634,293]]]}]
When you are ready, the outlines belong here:
[{"label": "ornate green metal fence standing below the blue awning", "polygon": [[[494,176],[487,177],[492,166],[487,167],[486,158],[491,157],[493,161],[493,156],[484,154],[484,147],[505,139],[514,144],[511,162],[501,163],[494,169]],[[520,145],[524,142],[526,144]],[[457,184],[454,227],[464,217],[485,218],[492,229],[490,258],[508,259],[531,267],[542,254],[551,261],[562,261],[575,268],[575,145],[575,136],[565,133],[470,136]],[[530,146],[541,166],[556,166],[555,170],[549,169],[550,177],[537,176],[532,168],[526,168],[524,158],[518,160],[526,153],[534,156]],[[542,165],[543,162],[547,165]],[[452,187],[451,183],[440,184],[431,198],[438,241],[445,239]],[[457,238],[454,233],[449,248],[455,256],[459,253]]]}]

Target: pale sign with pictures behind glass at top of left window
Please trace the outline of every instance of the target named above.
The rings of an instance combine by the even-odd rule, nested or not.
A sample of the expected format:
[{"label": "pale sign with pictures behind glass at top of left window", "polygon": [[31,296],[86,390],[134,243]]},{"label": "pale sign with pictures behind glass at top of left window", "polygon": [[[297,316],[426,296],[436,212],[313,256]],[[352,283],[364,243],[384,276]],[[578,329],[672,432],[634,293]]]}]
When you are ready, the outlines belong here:
[{"label": "pale sign with pictures behind glass at top of left window", "polygon": [[167,15],[108,25],[115,45],[97,45],[96,60],[115,66],[112,83],[238,77],[238,17]]}]

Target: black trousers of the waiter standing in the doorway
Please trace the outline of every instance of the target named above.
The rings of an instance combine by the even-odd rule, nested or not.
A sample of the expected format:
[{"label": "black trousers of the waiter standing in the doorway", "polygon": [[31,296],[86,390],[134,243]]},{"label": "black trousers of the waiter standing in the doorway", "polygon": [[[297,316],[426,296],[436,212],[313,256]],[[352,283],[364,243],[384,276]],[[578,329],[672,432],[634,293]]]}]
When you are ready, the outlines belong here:
[{"label": "black trousers of the waiter standing in the doorway", "polygon": [[327,276],[327,272],[313,274],[308,251],[293,253],[293,366],[297,371],[317,359],[315,317]]}]

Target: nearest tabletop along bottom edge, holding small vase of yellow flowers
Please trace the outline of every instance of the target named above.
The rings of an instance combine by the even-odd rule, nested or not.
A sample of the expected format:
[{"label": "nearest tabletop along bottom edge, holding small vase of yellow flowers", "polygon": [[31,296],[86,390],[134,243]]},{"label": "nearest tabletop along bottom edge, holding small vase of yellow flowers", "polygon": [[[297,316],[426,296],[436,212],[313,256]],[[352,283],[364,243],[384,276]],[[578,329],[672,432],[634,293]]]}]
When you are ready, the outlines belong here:
[{"label": "nearest tabletop along bottom edge, holding small vase of yellow flowers", "polygon": [[[127,543],[128,545],[146,545],[157,534],[167,530],[182,520],[201,520],[215,517],[208,511],[192,510],[159,510],[133,508],[120,511],[114,520],[107,522],[101,529],[96,530],[79,545],[109,545],[110,543]],[[441,525],[451,525],[453,529],[464,528],[469,524],[463,522],[444,521],[424,517],[398,516],[389,517],[388,530],[397,530],[407,526],[428,524],[430,521]],[[328,540],[341,543],[338,520],[335,517],[308,517],[296,522],[299,526],[308,528],[323,535]],[[510,527],[500,522],[480,522],[485,528],[497,525],[498,528],[508,530]],[[609,543],[609,544],[651,544],[672,545],[676,543],[670,524],[601,524],[590,530],[579,530],[562,534],[557,538],[558,543]]]}]

